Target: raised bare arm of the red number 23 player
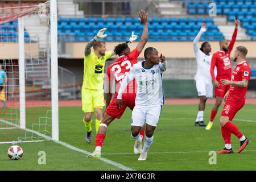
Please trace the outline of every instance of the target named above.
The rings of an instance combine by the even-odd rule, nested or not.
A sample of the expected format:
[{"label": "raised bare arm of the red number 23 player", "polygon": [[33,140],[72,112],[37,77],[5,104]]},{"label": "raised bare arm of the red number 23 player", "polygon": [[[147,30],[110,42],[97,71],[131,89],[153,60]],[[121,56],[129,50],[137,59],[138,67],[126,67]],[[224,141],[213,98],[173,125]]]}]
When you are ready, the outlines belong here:
[{"label": "raised bare arm of the red number 23 player", "polygon": [[137,45],[137,49],[139,53],[142,52],[144,46],[147,43],[147,37],[148,37],[148,23],[147,23],[147,13],[144,10],[139,11],[139,20],[141,23],[143,23],[143,32],[141,36],[141,41]]}]

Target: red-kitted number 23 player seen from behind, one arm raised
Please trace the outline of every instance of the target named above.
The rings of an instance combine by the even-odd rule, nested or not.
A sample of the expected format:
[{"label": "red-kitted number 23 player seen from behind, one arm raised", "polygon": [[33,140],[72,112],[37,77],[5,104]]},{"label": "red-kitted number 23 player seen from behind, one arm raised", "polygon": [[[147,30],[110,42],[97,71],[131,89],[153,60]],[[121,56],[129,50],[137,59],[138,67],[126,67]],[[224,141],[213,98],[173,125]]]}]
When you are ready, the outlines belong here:
[{"label": "red-kitted number 23 player seen from behind, one arm raised", "polygon": [[[100,128],[98,129],[98,133],[96,135],[96,148],[92,154],[88,155],[88,157],[100,158],[101,147],[104,142],[106,129],[109,126],[109,124],[115,118],[120,118],[122,114],[125,112],[125,109],[127,106],[131,110],[133,110],[135,106],[135,97],[136,97],[136,91],[137,91],[135,81],[130,82],[127,92],[122,95],[123,106],[118,109],[116,102],[117,102],[118,90],[123,78],[125,78],[127,73],[129,73],[130,68],[138,62],[137,61],[138,56],[142,52],[144,46],[147,43],[147,36],[148,36],[147,13],[145,11],[139,11],[139,19],[143,23],[143,33],[141,36],[141,41],[138,43],[137,47],[133,51],[130,51],[130,48],[128,47],[127,43],[123,43],[123,44],[119,44],[118,46],[115,46],[114,52],[119,56],[119,58],[115,60],[114,63],[108,67],[108,71],[107,71],[107,81],[108,81],[108,88],[109,88],[108,90],[109,92],[106,93],[107,109],[105,110],[104,117],[101,121]],[[110,103],[110,100],[112,98],[111,79],[113,77],[117,84],[117,89],[114,94],[114,98]],[[144,130],[141,131],[141,135],[143,137]],[[135,142],[134,153],[138,154],[140,150],[141,150],[141,144],[138,145]]]}]

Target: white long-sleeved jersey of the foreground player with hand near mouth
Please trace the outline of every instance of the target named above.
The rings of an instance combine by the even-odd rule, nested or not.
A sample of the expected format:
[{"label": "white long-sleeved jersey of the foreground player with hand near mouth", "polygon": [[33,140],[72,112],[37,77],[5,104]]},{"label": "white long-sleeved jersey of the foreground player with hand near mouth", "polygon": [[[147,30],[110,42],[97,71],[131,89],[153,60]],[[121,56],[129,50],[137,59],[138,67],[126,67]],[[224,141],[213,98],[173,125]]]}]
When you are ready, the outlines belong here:
[{"label": "white long-sleeved jersey of the foreground player with hand near mouth", "polygon": [[144,62],[133,65],[130,72],[123,79],[117,98],[122,98],[122,93],[125,91],[126,86],[135,78],[138,85],[135,99],[136,106],[152,107],[163,105],[163,72],[166,71],[166,61],[155,64],[151,68],[144,68]]}]

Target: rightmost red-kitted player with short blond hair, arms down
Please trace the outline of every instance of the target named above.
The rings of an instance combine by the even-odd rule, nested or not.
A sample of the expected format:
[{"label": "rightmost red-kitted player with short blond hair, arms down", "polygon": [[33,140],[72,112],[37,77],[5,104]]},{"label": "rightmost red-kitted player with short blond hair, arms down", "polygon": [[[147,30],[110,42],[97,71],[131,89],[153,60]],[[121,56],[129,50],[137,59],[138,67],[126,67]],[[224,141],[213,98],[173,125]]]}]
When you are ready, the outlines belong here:
[{"label": "rightmost red-kitted player with short blond hair, arms down", "polygon": [[234,68],[231,80],[221,80],[221,85],[230,85],[230,89],[224,96],[225,105],[220,118],[221,134],[225,141],[225,148],[219,151],[218,154],[233,153],[231,146],[232,133],[240,140],[238,153],[243,151],[250,142],[250,140],[238,130],[237,126],[231,122],[236,113],[245,105],[246,90],[251,76],[250,65],[245,60],[247,52],[247,49],[243,46],[236,48],[234,61],[237,61],[237,66]]}]

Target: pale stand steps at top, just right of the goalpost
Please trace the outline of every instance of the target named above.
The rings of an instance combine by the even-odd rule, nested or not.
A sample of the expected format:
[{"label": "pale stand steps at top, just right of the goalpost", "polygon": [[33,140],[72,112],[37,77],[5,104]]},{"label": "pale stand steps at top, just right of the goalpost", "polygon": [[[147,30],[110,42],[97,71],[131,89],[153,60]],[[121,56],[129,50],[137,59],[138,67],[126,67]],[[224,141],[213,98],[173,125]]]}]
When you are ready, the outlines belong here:
[{"label": "pale stand steps at top, just right of the goalpost", "polygon": [[84,16],[83,11],[79,11],[79,5],[69,0],[57,1],[58,16]]}]

